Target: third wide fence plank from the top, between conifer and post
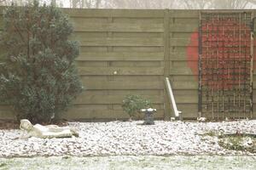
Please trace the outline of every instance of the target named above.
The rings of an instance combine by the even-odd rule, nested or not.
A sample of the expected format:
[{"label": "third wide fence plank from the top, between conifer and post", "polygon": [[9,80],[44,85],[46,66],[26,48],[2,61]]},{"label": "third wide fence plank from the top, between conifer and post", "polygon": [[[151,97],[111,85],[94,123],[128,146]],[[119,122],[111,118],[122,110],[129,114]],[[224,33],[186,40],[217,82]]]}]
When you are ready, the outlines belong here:
[{"label": "third wide fence plank from the top, between conifer and post", "polygon": [[78,39],[81,46],[163,46],[163,38],[103,37]]}]

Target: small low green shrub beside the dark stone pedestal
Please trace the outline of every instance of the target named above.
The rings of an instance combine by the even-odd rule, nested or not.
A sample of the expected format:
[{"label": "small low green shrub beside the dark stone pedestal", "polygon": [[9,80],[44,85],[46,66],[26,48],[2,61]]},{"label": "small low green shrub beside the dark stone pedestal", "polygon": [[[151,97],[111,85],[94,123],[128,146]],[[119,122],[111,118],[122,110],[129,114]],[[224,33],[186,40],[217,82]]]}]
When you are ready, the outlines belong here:
[{"label": "small low green shrub beside the dark stone pedestal", "polygon": [[122,108],[130,116],[135,116],[141,109],[151,107],[148,99],[143,99],[140,95],[126,95]]}]

